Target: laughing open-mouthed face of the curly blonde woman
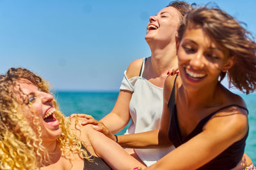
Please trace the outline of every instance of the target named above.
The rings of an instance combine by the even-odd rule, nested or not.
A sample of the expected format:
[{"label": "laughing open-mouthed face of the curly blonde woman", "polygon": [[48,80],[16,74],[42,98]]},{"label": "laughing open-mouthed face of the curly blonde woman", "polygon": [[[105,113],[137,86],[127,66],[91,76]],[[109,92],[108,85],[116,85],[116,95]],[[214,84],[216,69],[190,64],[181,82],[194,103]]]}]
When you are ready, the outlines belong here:
[{"label": "laughing open-mouthed face of the curly blonde woman", "polygon": [[[17,85],[14,87],[19,101],[26,101],[29,104],[25,104],[22,111],[31,126],[35,126],[31,116],[35,112],[40,120],[40,127],[42,129],[43,142],[55,141],[61,135],[61,129],[59,127],[59,121],[54,117],[55,108],[52,106],[52,95],[40,91],[33,83],[28,80],[20,79],[17,81]],[[45,122],[46,121],[46,122]]]}]

